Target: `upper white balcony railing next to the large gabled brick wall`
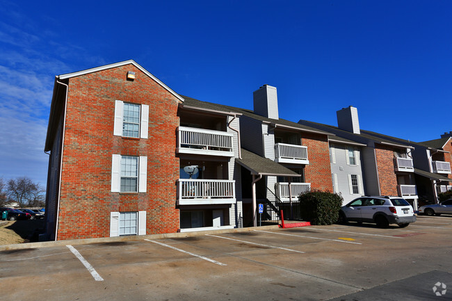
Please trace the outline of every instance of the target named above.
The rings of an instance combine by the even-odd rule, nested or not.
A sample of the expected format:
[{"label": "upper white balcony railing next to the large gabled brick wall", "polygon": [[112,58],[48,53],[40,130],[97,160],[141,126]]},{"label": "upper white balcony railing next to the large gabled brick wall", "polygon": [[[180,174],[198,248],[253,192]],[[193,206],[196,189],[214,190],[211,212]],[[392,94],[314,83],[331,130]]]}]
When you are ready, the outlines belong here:
[{"label": "upper white balcony railing next to the large gabled brick wall", "polygon": [[179,127],[177,152],[207,156],[234,156],[233,135],[225,131]]}]

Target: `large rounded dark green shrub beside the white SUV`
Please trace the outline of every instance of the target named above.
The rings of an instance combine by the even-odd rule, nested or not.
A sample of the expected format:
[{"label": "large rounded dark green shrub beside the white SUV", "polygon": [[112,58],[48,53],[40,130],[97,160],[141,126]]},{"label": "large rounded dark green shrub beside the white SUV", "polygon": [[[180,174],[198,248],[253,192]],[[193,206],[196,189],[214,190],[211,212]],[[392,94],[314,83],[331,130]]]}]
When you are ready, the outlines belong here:
[{"label": "large rounded dark green shrub beside the white SUV", "polygon": [[332,225],[339,218],[342,197],[329,191],[312,190],[298,197],[302,220],[312,225]]}]

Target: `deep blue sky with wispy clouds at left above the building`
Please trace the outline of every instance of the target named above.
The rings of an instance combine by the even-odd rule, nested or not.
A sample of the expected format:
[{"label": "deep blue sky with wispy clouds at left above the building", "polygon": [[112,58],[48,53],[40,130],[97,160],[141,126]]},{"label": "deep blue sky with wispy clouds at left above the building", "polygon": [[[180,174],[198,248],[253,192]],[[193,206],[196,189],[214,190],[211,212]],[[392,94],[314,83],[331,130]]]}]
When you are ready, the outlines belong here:
[{"label": "deep blue sky with wispy clouds at left above the building", "polygon": [[0,177],[45,186],[54,76],[133,59],[181,95],[423,141],[452,131],[452,1],[0,0]]}]

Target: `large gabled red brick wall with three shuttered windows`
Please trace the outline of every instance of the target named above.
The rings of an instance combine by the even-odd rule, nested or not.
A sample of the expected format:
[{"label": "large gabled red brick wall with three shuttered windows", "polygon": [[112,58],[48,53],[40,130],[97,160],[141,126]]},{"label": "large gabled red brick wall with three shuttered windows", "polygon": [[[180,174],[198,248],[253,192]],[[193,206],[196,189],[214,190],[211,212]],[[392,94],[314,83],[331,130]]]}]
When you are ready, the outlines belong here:
[{"label": "large gabled red brick wall with three shuttered windows", "polygon": [[[127,71],[136,73],[127,81]],[[113,136],[115,100],[148,104],[149,138]],[[146,211],[146,234],[175,232],[178,100],[134,65],[69,80],[58,240],[108,237],[111,211]],[[147,192],[112,193],[113,154],[147,156]]]}]

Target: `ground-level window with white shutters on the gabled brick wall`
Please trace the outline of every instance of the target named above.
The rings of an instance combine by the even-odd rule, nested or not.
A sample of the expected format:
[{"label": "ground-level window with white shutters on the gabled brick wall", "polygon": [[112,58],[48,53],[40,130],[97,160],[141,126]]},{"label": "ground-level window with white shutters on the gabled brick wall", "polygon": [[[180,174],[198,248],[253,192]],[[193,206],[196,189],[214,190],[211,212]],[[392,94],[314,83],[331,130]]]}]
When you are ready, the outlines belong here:
[{"label": "ground-level window with white shutters on the gabled brick wall", "polygon": [[110,236],[125,235],[146,235],[146,211],[110,213]]}]

